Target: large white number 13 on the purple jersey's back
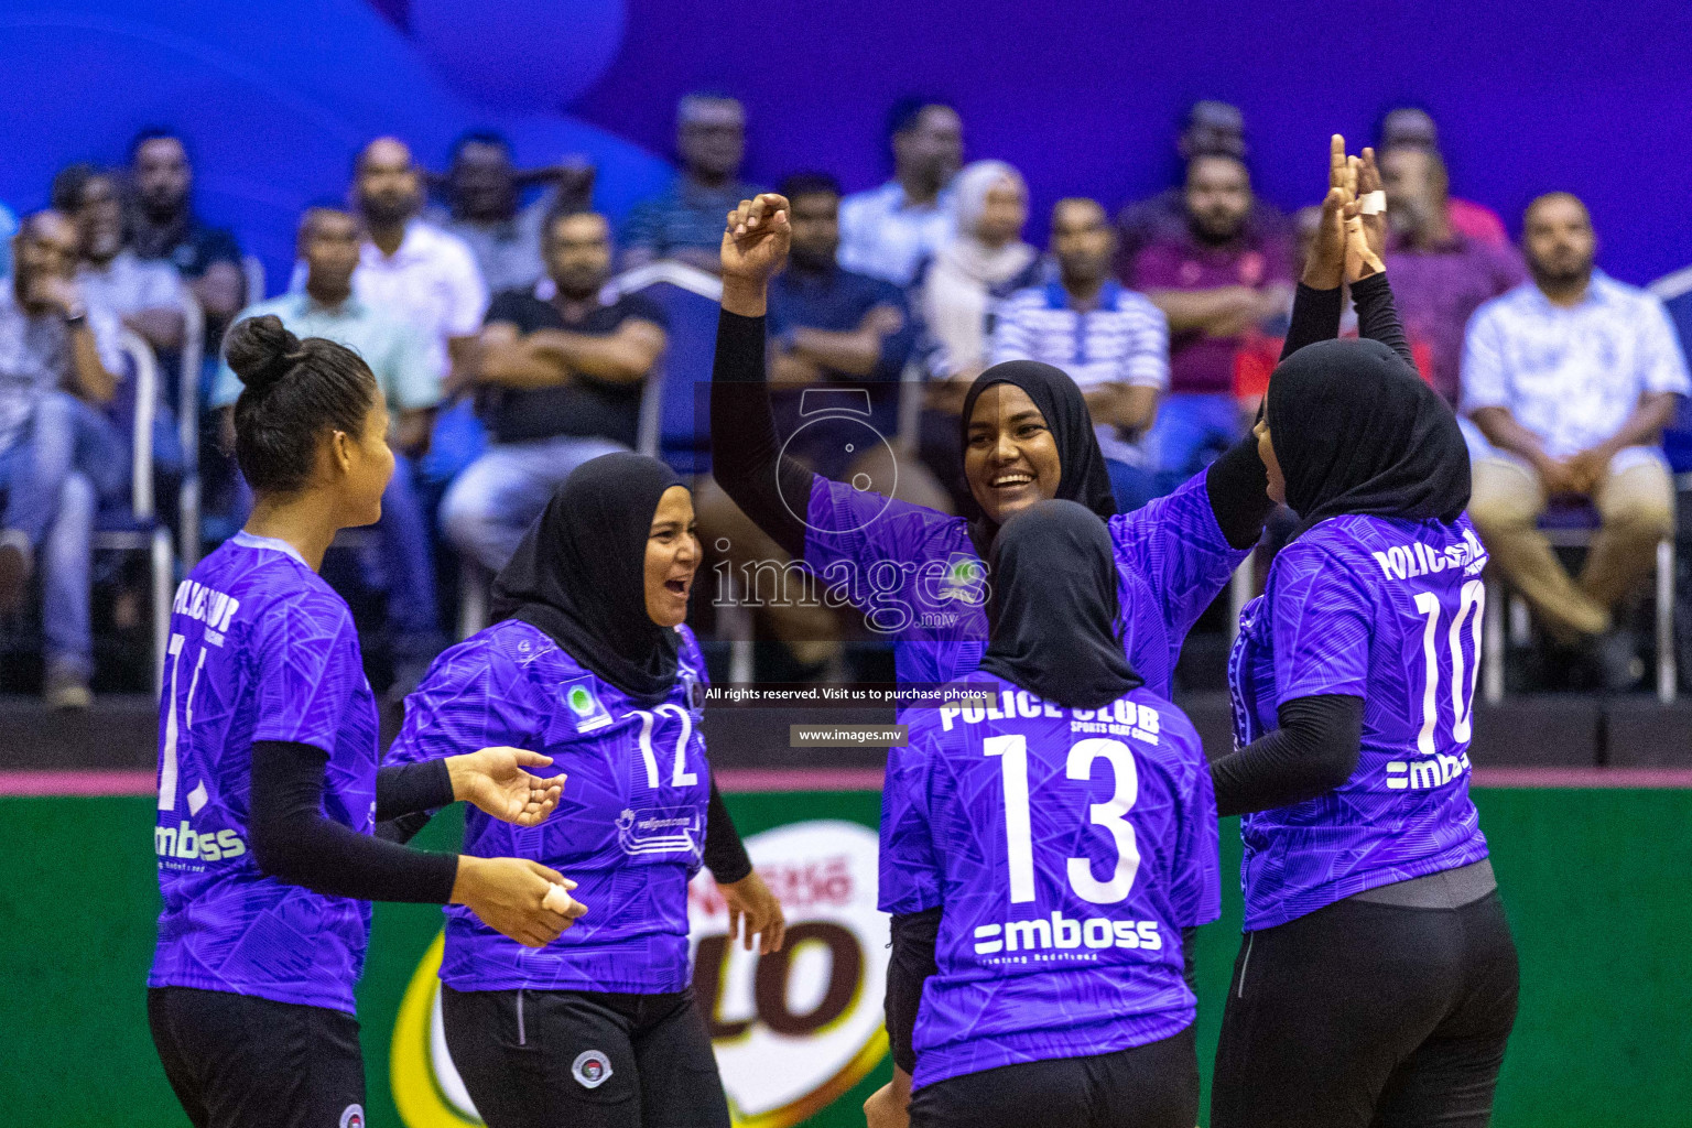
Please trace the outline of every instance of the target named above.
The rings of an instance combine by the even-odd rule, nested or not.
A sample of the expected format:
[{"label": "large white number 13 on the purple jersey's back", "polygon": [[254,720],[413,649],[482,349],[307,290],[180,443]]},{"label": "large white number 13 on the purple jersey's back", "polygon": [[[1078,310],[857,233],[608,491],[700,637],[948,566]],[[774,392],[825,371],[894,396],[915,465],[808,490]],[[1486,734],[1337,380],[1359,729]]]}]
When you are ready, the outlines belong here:
[{"label": "large white number 13 on the purple jersey's back", "polygon": [[[1034,900],[1034,832],[1029,820],[1029,737],[990,736],[981,741],[981,754],[1000,756],[1000,778],[1005,785],[1005,846],[1010,854],[1010,903]],[[1076,741],[1069,747],[1064,775],[1071,780],[1090,780],[1093,761],[1107,759],[1117,776],[1115,793],[1107,803],[1093,803],[1090,819],[1095,827],[1110,832],[1117,846],[1117,864],[1105,881],[1093,876],[1093,859],[1068,859],[1069,888],[1083,901],[1115,905],[1129,896],[1134,874],[1140,871],[1140,847],[1134,839],[1134,824],[1127,820],[1129,808],[1139,798],[1140,778],[1134,766],[1134,753],[1122,741],[1095,736]]]}]

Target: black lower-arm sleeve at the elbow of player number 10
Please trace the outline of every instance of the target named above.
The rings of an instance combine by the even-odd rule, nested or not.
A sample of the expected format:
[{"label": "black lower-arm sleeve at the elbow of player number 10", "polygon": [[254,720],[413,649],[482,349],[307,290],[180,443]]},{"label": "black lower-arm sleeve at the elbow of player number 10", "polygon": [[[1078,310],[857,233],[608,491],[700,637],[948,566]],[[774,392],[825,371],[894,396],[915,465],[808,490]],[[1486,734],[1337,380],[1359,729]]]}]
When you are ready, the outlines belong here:
[{"label": "black lower-arm sleeve at the elbow of player number 10", "polygon": [[1352,778],[1362,754],[1364,698],[1294,697],[1276,710],[1279,727],[1210,764],[1218,815],[1291,807]]}]

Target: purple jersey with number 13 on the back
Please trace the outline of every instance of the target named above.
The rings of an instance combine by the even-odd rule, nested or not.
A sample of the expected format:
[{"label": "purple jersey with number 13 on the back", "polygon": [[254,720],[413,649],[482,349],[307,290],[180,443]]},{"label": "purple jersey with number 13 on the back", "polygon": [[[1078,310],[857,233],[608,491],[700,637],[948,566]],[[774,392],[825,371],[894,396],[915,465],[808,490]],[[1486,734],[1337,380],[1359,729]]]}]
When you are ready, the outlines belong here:
[{"label": "purple jersey with number 13 on the back", "polygon": [[1091,710],[970,687],[995,707],[905,715],[882,800],[880,908],[944,908],[917,1089],[1186,1030],[1181,930],[1218,915],[1210,773],[1179,709],[1149,688]]}]

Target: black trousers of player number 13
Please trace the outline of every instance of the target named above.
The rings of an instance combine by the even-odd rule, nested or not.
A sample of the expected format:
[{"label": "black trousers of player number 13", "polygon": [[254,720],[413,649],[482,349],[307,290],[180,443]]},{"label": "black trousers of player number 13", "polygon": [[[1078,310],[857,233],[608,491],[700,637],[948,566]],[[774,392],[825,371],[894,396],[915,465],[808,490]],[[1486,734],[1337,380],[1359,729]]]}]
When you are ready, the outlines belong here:
[{"label": "black trousers of player number 13", "polygon": [[922,1086],[910,1128],[1193,1128],[1193,1028],[1093,1057],[1000,1065]]}]

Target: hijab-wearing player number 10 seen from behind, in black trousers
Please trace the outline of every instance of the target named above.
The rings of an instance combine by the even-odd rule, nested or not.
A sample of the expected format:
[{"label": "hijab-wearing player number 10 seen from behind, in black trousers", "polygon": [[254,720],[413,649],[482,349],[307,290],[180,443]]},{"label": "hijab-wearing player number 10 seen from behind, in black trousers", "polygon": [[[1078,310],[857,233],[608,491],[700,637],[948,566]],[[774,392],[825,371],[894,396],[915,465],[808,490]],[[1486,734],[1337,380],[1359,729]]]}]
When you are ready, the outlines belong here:
[{"label": "hijab-wearing player number 10 seen from behind, in black trousers", "polygon": [[[1349,274],[1379,269],[1354,232]],[[1480,1128],[1514,1023],[1469,798],[1486,602],[1469,455],[1387,340],[1289,357],[1257,426],[1269,492],[1303,524],[1242,616],[1239,751],[1213,766],[1222,813],[1245,813],[1213,1128]]]}]

